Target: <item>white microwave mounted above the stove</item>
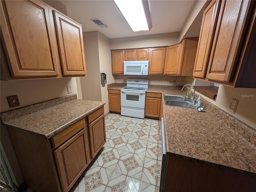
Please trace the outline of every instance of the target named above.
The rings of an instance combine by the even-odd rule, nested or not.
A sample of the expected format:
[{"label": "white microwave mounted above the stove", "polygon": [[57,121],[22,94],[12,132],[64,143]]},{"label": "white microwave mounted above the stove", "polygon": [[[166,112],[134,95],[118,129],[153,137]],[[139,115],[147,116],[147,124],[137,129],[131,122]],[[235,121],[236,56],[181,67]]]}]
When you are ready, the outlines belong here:
[{"label": "white microwave mounted above the stove", "polygon": [[125,75],[148,75],[148,60],[124,61]]}]

